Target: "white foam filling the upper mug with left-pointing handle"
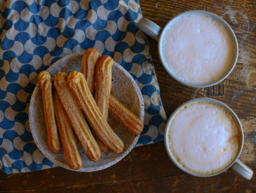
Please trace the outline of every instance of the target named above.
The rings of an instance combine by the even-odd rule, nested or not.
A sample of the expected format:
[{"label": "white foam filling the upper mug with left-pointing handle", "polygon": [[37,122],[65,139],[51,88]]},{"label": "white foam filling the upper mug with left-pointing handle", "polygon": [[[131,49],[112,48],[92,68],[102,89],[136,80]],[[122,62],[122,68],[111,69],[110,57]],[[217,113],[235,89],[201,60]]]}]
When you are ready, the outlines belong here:
[{"label": "white foam filling the upper mug with left-pointing handle", "polygon": [[164,33],[163,62],[177,78],[205,84],[221,79],[232,65],[232,39],[221,23],[201,14],[182,16]]}]

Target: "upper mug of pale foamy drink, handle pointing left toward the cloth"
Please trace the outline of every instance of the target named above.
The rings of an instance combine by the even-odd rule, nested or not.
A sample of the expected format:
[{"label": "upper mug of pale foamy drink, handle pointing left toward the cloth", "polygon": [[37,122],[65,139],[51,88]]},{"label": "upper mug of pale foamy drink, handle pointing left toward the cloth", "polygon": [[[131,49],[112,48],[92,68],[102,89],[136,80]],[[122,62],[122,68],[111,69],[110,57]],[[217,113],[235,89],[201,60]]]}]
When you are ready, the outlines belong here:
[{"label": "upper mug of pale foamy drink, handle pointing left toward the cloth", "polygon": [[164,28],[141,18],[138,27],[158,41],[159,57],[164,68],[184,85],[216,85],[236,65],[236,35],[225,20],[211,12],[183,12],[172,18]]}]

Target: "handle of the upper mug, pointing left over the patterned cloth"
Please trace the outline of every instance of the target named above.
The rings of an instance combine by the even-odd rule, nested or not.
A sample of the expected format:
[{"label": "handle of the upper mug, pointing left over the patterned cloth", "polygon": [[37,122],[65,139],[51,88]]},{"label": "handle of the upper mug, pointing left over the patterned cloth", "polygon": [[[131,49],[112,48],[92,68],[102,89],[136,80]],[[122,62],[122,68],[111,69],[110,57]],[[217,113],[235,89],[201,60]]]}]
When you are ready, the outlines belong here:
[{"label": "handle of the upper mug, pointing left over the patterned cloth", "polygon": [[158,41],[160,33],[162,31],[162,27],[158,26],[158,24],[151,22],[151,20],[149,19],[141,18],[138,22],[138,27],[141,31],[146,33],[146,35]]}]

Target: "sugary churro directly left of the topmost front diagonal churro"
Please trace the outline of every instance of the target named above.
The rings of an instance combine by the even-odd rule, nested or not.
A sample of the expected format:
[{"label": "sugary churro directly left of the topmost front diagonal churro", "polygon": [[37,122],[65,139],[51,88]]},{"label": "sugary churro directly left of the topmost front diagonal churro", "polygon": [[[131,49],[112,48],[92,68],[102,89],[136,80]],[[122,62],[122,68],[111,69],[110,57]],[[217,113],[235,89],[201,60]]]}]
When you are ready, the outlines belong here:
[{"label": "sugary churro directly left of the topmost front diagonal churro", "polygon": [[79,104],[76,102],[75,96],[68,88],[67,73],[57,73],[54,78],[54,86],[57,90],[59,99],[68,115],[69,121],[79,139],[82,148],[89,160],[98,161],[101,157],[100,148],[95,141],[89,126],[86,123]]}]

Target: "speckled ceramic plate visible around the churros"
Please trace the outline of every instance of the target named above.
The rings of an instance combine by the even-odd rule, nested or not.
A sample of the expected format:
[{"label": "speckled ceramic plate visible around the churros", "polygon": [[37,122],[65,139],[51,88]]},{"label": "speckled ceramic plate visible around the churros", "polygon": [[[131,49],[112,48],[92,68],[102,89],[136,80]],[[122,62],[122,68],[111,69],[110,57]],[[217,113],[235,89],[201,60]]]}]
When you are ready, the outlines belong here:
[{"label": "speckled ceramic plate visible around the churros", "polygon": [[[48,68],[49,73],[53,77],[53,74],[56,74],[57,72],[68,73],[74,70],[80,71],[82,55],[83,53],[73,53],[61,58]],[[112,80],[112,91],[114,95],[143,121],[143,98],[133,77],[131,77],[131,75],[123,69],[122,66],[115,63],[112,69]],[[70,169],[65,162],[63,150],[61,150],[60,153],[52,153],[47,146],[47,132],[46,122],[44,121],[42,92],[38,84],[31,96],[29,121],[32,136],[44,156],[53,163],[56,163],[56,165]],[[111,114],[109,114],[109,124],[113,128],[114,132],[123,140],[123,143],[125,144],[123,152],[120,154],[114,154],[112,152],[102,153],[99,161],[92,162],[88,160],[84,150],[81,145],[79,145],[79,152],[82,157],[82,167],[76,171],[90,172],[105,169],[120,161],[134,148],[139,136],[135,137],[133,133],[127,131],[127,129],[119,124]]]}]

